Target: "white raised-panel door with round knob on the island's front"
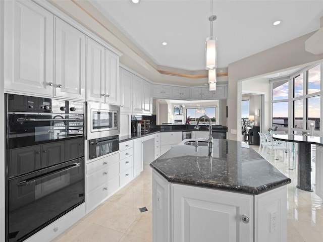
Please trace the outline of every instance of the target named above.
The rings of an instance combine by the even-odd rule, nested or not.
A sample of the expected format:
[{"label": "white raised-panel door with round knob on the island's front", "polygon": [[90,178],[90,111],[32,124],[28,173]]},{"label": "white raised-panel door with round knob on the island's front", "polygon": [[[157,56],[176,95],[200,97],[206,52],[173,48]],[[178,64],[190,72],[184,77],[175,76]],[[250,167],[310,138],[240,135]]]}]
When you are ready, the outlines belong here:
[{"label": "white raised-panel door with round knob on the island's front", "polygon": [[252,195],[171,186],[172,241],[253,241]]}]

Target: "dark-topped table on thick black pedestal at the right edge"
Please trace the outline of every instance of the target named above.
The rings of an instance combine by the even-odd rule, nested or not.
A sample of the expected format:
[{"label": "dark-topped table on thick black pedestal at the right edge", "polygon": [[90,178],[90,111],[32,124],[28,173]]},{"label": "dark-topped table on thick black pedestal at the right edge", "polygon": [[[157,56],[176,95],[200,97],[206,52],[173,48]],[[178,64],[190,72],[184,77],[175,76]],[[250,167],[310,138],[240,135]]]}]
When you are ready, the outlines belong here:
[{"label": "dark-topped table on thick black pedestal at the right edge", "polygon": [[323,137],[309,134],[273,134],[273,139],[294,142],[298,144],[297,150],[297,188],[304,191],[313,191],[311,181],[311,145],[323,146]]}]

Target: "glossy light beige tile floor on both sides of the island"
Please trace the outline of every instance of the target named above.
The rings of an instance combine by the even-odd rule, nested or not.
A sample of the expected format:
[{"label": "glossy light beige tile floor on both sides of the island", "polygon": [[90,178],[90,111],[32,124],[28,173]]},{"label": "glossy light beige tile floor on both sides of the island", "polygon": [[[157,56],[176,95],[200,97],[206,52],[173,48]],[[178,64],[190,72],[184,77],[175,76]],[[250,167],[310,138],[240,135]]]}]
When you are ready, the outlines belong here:
[{"label": "glossy light beige tile floor on both sides of the island", "polygon": [[[258,151],[258,146],[250,146]],[[288,185],[288,242],[323,241],[322,200],[315,192],[296,188],[296,169],[280,160],[273,163],[292,183]],[[151,168],[143,172],[118,193],[107,199],[52,242],[147,242],[152,241]],[[140,213],[139,208],[148,211]]]}]

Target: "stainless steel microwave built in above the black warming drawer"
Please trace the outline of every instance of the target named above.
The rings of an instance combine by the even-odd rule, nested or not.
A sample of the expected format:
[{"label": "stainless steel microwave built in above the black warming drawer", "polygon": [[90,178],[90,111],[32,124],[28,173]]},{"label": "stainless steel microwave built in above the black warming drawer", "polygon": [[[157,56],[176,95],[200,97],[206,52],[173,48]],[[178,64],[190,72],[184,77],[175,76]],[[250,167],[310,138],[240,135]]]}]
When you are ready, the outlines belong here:
[{"label": "stainless steel microwave built in above the black warming drawer", "polygon": [[87,139],[120,134],[120,106],[87,102]]}]

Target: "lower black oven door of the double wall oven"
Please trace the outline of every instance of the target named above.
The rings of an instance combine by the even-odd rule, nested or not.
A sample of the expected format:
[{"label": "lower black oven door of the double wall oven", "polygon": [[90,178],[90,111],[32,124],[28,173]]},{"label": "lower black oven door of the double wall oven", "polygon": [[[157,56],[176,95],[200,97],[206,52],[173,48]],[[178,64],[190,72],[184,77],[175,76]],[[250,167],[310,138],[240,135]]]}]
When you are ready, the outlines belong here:
[{"label": "lower black oven door of the double wall oven", "polygon": [[84,202],[84,158],[8,180],[9,241],[22,241]]}]

